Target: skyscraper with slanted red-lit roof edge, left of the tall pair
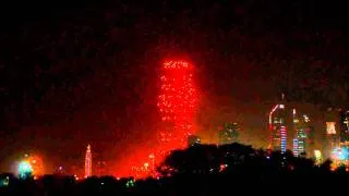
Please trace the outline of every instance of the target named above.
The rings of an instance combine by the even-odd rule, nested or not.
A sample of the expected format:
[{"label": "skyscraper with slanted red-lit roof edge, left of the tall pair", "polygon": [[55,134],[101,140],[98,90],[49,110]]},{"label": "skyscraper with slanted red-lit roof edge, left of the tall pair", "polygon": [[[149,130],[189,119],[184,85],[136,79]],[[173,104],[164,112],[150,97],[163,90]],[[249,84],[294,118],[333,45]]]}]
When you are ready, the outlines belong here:
[{"label": "skyscraper with slanted red-lit roof edge, left of the tall pair", "polygon": [[287,127],[285,123],[285,105],[276,105],[269,113],[270,149],[287,150]]}]

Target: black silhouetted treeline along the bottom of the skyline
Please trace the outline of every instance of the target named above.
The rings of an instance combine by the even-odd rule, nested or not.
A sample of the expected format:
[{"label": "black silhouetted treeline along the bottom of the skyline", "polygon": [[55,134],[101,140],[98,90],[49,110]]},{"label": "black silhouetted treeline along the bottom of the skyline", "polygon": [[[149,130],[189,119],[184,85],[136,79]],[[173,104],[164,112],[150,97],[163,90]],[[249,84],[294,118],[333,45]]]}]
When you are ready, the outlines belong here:
[{"label": "black silhouetted treeline along the bottom of the skyline", "polygon": [[349,180],[345,168],[332,171],[330,161],[315,166],[312,159],[294,158],[290,152],[267,152],[240,144],[177,150],[158,171],[163,177],[140,181],[112,176],[75,181],[58,175],[34,181],[11,176],[0,195],[317,194],[346,189],[342,185]]}]

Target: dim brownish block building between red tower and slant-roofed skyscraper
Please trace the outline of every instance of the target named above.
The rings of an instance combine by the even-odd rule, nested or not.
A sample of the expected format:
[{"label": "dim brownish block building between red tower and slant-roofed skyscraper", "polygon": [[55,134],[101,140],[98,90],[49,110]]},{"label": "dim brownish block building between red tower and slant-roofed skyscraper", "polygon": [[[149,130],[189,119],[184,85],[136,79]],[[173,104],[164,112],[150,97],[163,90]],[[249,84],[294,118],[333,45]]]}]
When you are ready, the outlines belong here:
[{"label": "dim brownish block building between red tower and slant-roofed skyscraper", "polygon": [[240,126],[238,123],[226,123],[224,128],[218,132],[219,145],[232,144],[238,142]]}]

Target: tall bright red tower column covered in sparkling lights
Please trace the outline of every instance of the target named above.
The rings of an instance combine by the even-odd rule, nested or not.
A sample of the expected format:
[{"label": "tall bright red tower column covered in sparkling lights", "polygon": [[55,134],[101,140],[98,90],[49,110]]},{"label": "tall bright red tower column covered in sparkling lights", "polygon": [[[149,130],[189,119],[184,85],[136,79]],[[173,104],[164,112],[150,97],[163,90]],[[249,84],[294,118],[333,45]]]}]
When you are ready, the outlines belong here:
[{"label": "tall bright red tower column covered in sparkling lights", "polygon": [[186,137],[194,134],[198,95],[192,71],[193,66],[185,61],[166,61],[163,64],[157,103],[164,125],[161,150],[185,147]]}]

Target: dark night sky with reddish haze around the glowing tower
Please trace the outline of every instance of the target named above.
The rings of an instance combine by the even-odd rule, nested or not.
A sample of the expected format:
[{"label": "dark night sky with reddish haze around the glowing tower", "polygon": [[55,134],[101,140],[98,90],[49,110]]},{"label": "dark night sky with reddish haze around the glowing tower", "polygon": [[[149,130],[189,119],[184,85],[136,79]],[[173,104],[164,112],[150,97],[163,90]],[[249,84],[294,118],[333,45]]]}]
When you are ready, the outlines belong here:
[{"label": "dark night sky with reddish haze around the glowing tower", "polygon": [[207,140],[238,120],[253,137],[245,140],[265,145],[266,113],[281,91],[320,124],[323,108],[347,106],[341,4],[52,2],[1,7],[0,160],[35,150],[80,164],[87,143],[106,160],[135,150],[157,127],[158,65],[172,56],[195,64]]}]

